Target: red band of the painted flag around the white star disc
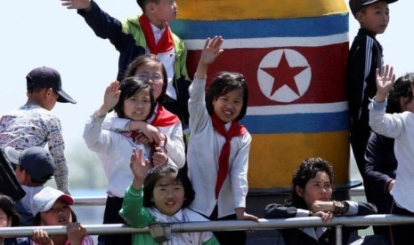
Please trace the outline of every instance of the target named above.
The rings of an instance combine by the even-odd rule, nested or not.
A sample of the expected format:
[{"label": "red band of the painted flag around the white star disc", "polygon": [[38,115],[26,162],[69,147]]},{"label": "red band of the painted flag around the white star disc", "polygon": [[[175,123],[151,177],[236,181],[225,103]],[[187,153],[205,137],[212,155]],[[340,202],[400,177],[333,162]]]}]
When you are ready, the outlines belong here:
[{"label": "red band of the painted flag around the white star disc", "polygon": [[[311,83],[304,94],[291,102],[279,102],[267,98],[259,88],[257,71],[264,57],[271,51],[293,50],[307,60],[312,70]],[[189,51],[187,68],[194,75],[200,51]],[[250,107],[288,104],[332,103],[346,100],[345,74],[348,43],[320,47],[278,47],[265,49],[224,50],[208,69],[207,86],[220,71],[233,71],[245,75],[249,88]],[[275,63],[277,64],[277,63]],[[299,71],[301,69],[298,69]]]}]

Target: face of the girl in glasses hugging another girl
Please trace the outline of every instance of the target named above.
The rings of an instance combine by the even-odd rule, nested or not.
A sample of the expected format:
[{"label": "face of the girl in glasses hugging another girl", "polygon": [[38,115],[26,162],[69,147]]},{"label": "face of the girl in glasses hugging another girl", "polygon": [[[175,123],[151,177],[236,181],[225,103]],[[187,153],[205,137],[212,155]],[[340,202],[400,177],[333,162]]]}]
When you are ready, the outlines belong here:
[{"label": "face of the girl in glasses hugging another girl", "polygon": [[[164,77],[162,75],[161,65],[155,61],[150,61],[145,65],[138,67],[134,75],[140,77],[141,79],[144,78],[144,76],[149,78],[148,81],[145,79],[142,80],[151,84],[154,99],[157,100],[164,86]],[[159,77],[160,79],[155,80],[153,79],[154,77]]]}]

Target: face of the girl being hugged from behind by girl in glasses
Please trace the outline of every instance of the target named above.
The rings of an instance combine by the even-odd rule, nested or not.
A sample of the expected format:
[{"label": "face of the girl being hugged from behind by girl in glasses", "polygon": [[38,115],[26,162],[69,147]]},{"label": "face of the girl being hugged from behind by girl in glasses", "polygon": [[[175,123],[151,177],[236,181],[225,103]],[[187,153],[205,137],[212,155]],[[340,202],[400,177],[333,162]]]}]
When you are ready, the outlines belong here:
[{"label": "face of the girl being hugged from behind by girl in glasses", "polygon": [[124,115],[134,121],[143,121],[150,115],[150,89],[136,91],[133,96],[124,100]]}]

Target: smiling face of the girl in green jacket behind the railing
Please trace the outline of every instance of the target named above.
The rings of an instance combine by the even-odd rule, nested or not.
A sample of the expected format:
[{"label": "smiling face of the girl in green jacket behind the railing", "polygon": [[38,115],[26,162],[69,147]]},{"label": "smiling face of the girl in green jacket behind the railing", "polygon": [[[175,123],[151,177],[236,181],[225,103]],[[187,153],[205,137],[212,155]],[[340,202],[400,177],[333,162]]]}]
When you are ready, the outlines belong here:
[{"label": "smiling face of the girl in green jacket behind the railing", "polygon": [[152,191],[151,202],[167,216],[174,216],[183,207],[185,200],[184,187],[180,180],[162,177],[157,180]]}]

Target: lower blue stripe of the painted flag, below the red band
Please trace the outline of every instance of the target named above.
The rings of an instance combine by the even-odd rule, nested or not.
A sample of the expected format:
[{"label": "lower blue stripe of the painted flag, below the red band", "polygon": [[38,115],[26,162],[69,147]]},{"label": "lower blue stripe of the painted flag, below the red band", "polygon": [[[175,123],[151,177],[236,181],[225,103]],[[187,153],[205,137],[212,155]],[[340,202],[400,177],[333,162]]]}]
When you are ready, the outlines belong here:
[{"label": "lower blue stripe of the painted flag, below the red band", "polygon": [[349,129],[348,111],[322,114],[246,115],[240,122],[251,134],[312,133]]}]

